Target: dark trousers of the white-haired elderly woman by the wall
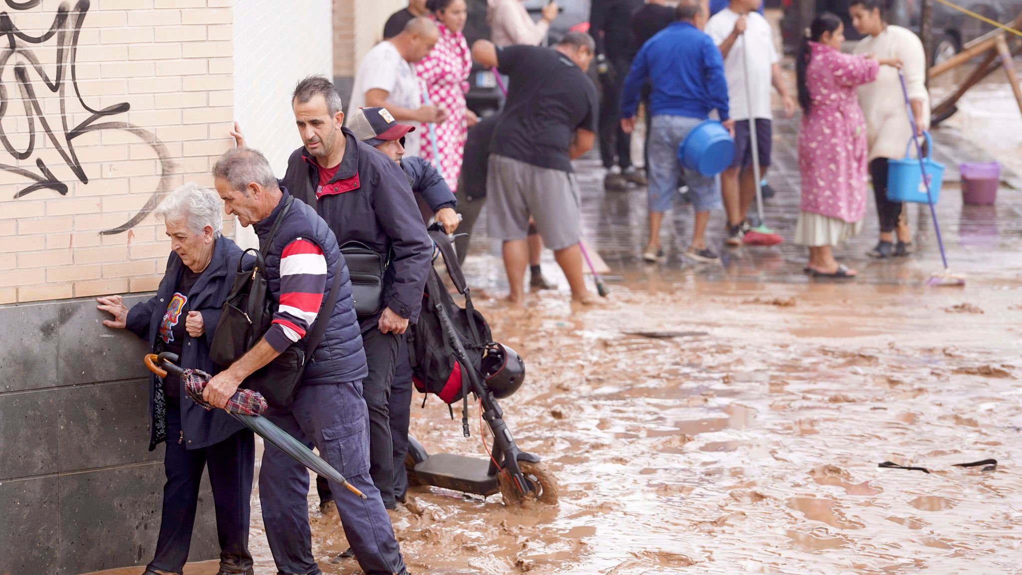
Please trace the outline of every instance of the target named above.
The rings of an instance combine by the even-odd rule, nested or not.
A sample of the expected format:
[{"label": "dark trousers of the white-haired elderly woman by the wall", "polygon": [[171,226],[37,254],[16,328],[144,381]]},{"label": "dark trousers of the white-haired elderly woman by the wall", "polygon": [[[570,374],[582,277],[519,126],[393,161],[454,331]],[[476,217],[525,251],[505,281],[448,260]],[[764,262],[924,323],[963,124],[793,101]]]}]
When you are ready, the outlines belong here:
[{"label": "dark trousers of the white-haired elderly woman by the wall", "polygon": [[[180,401],[180,400],[178,400]],[[190,400],[186,400],[190,401]],[[200,449],[186,449],[181,437],[181,408],[168,401],[167,451],[164,468],[164,511],[159,522],[156,552],[149,569],[181,573],[188,560],[195,508],[198,504],[202,469],[210,470],[214,507],[217,514],[217,539],[220,542],[220,569],[243,573],[252,566],[248,554],[248,500],[252,492],[256,467],[256,441],[243,430]]]}]

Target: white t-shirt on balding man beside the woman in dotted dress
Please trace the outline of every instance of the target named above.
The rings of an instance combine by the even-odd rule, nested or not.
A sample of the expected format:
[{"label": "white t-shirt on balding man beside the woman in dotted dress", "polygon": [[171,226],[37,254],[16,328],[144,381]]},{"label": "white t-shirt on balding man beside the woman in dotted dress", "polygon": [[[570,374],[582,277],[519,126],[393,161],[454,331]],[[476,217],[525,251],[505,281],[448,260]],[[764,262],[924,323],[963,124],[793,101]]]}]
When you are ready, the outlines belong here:
[{"label": "white t-shirt on balding man beside the woman in dotted dress", "polygon": [[[366,105],[366,92],[369,90],[386,90],[386,101],[416,109],[422,105],[422,87],[415,69],[401,57],[398,48],[386,40],[373,46],[366,57],[362,58],[359,71],[355,75],[355,86],[352,88],[352,101],[349,105],[350,118],[352,110]],[[346,122],[346,121],[345,121]],[[402,124],[418,124],[411,120],[399,120]],[[419,156],[419,130],[409,132],[405,136],[405,156]]]}]

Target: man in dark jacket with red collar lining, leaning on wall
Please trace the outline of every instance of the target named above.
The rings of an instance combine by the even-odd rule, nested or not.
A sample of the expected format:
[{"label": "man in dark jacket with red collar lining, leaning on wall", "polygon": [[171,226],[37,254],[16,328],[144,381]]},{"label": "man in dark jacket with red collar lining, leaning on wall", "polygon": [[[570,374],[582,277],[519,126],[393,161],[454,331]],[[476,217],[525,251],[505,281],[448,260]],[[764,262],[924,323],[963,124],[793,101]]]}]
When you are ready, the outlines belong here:
[{"label": "man in dark jacket with red collar lining, leaning on wall", "polygon": [[305,145],[291,153],[281,184],[315,207],[338,244],[360,241],[389,262],[380,311],[359,321],[369,363],[362,381],[369,406],[369,473],[383,503],[393,508],[390,384],[401,336],[419,317],[432,242],[401,167],[342,128],[344,114],[332,82],[306,78],[295,86],[291,104]]}]

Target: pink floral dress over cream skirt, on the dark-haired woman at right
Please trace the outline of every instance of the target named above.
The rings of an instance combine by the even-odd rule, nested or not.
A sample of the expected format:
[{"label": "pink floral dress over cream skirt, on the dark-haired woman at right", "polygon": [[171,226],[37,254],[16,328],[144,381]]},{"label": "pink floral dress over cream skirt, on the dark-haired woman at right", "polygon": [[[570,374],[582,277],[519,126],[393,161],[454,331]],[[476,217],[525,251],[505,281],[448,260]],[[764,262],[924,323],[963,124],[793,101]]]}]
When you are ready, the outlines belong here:
[{"label": "pink floral dress over cream skirt, on the dark-haired woman at right", "polygon": [[809,42],[805,73],[811,105],[798,134],[801,210],[848,223],[866,215],[866,119],[855,87],[877,78],[876,60]]}]

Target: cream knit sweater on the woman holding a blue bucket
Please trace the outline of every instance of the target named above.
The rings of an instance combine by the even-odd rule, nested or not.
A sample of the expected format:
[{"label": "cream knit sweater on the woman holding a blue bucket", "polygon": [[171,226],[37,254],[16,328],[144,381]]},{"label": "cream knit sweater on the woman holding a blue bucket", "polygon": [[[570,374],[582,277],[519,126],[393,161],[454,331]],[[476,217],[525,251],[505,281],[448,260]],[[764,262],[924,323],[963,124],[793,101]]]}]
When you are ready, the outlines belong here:
[{"label": "cream knit sweater on the woman holding a blue bucket", "polygon": [[[860,40],[853,52],[873,54],[878,58],[900,59],[909,98],[923,101],[923,125],[930,125],[930,94],[925,85],[926,54],[919,37],[899,26],[888,26],[879,35]],[[876,82],[858,87],[858,105],[866,116],[870,160],[903,158],[912,130],[909,127],[909,114],[904,108],[897,70],[889,65],[880,67]]]}]

